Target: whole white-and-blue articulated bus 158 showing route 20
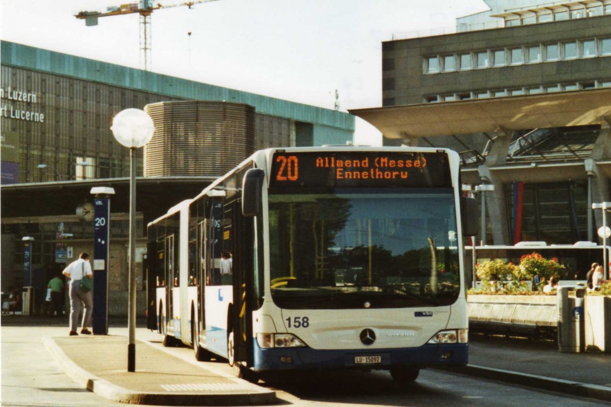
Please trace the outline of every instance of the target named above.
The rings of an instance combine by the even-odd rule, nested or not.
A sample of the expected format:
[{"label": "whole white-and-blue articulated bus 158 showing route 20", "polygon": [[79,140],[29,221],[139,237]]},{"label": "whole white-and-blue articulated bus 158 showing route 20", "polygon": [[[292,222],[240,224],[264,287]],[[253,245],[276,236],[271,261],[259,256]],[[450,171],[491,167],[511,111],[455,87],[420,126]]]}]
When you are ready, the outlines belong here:
[{"label": "whole white-and-blue articulated bus 158 showing route 20", "polygon": [[148,224],[148,327],[244,378],[464,365],[460,185],[447,149],[255,152]]}]

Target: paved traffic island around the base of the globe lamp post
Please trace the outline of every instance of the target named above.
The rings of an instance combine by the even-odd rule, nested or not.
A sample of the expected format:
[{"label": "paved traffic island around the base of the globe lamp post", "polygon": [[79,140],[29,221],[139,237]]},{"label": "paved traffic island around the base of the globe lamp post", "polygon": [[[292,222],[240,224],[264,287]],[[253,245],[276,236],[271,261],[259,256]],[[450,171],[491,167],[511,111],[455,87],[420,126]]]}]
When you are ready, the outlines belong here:
[{"label": "paved traffic island around the base of the globe lamp post", "polygon": [[212,372],[163,350],[136,343],[136,372],[127,372],[125,336],[45,338],[65,372],[77,383],[115,402],[147,405],[262,405],[276,393]]}]

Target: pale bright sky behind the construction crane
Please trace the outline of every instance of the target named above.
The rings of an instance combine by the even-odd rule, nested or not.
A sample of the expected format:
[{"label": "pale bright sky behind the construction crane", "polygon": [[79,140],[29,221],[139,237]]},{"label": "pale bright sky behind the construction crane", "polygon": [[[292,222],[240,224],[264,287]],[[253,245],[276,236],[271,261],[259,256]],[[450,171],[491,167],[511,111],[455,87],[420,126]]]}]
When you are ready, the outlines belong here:
[{"label": "pale bright sky behind the construction crane", "polygon": [[[139,15],[92,27],[75,18],[127,2],[2,0],[1,38],[141,68]],[[213,0],[155,10],[150,70],[329,109],[335,90],[339,110],[381,107],[382,41],[452,32],[456,17],[484,10],[483,0]],[[354,140],[381,145],[359,118]]]}]

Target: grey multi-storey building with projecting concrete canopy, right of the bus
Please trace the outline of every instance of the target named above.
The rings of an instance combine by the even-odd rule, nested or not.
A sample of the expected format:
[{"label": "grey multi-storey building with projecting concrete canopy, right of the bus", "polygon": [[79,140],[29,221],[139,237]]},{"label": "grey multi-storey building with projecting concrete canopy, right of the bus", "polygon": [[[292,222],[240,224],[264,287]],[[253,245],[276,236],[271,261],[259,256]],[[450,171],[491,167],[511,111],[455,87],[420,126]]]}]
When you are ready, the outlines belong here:
[{"label": "grey multi-storey building with projecting concrete canopy, right of the bus", "polygon": [[493,185],[478,242],[599,241],[591,204],[611,200],[611,0],[485,2],[453,34],[382,43],[382,107],[351,113],[385,145],[458,151],[463,184]]}]

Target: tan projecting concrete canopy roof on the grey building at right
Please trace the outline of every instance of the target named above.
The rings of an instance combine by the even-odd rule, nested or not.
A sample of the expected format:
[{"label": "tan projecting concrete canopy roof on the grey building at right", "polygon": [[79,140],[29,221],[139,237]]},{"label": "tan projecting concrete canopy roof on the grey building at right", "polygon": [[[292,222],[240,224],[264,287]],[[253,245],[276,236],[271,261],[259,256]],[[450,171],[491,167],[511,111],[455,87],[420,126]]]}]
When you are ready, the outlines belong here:
[{"label": "tan projecting concrete canopy roof on the grey building at right", "polygon": [[611,123],[611,88],[349,110],[387,138]]}]

